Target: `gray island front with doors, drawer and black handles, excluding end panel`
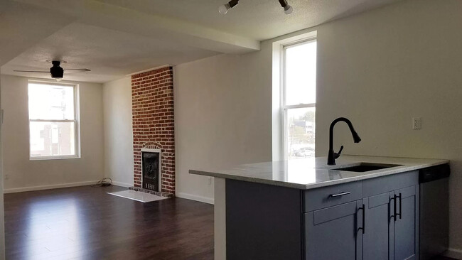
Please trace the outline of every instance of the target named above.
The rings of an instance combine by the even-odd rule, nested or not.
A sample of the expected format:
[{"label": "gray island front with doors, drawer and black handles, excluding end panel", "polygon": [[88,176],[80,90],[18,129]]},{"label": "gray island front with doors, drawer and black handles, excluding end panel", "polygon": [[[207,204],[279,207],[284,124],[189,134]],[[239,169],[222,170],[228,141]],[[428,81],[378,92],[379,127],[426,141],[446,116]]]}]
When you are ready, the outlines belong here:
[{"label": "gray island front with doors, drawer and black handles, excluding end panel", "polygon": [[305,259],[417,259],[417,184],[413,171],[306,191]]}]

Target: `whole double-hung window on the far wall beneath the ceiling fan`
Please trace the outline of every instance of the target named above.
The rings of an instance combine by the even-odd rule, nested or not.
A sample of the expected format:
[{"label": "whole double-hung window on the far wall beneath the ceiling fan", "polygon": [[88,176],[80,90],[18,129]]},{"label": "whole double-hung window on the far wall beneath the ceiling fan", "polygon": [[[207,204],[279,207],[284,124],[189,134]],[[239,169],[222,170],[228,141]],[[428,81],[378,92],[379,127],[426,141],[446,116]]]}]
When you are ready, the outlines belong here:
[{"label": "whole double-hung window on the far wall beneath the ceiling fan", "polygon": [[29,82],[31,159],[79,156],[76,89],[75,85]]}]

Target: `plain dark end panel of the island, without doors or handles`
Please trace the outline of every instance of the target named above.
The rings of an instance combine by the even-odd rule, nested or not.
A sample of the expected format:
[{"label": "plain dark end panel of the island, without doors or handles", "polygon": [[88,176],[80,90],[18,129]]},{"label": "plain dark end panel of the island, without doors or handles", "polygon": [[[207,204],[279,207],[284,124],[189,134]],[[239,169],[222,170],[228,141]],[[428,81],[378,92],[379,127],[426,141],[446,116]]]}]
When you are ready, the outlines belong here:
[{"label": "plain dark end panel of the island, without doors or handles", "polygon": [[303,259],[300,190],[226,180],[226,259]]}]

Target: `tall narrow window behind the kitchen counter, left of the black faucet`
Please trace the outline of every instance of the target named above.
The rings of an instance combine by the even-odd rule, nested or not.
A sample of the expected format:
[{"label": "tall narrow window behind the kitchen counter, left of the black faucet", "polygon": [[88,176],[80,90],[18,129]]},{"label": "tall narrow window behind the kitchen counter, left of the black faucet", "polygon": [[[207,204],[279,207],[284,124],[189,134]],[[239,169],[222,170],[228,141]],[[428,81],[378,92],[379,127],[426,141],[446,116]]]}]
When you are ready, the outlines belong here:
[{"label": "tall narrow window behind the kitchen counter, left of the black faucet", "polygon": [[284,158],[314,157],[316,40],[284,45],[283,64]]}]

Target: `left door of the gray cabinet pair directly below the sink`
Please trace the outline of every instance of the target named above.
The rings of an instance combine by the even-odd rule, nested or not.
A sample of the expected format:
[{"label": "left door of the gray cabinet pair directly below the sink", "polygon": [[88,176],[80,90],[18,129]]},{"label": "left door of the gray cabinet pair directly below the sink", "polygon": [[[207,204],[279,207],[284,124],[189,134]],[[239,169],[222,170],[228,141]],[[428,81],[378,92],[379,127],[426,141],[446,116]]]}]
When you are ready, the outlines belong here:
[{"label": "left door of the gray cabinet pair directly below the sink", "polygon": [[[365,205],[365,232],[362,236],[364,260],[390,260],[390,225],[392,197],[394,193],[382,193],[363,200]],[[391,258],[392,259],[392,258]]]}]

